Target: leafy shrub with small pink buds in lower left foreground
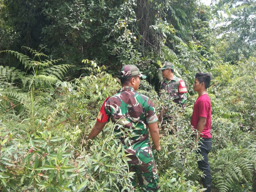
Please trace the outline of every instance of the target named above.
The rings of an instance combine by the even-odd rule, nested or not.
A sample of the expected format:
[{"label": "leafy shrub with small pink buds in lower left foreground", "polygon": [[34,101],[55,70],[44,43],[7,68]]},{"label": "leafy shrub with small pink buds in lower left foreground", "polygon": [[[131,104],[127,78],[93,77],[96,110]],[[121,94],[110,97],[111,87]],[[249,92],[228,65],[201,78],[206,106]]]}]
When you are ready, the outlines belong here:
[{"label": "leafy shrub with small pink buds in lower left foreground", "polygon": [[114,139],[113,127],[103,141],[96,143],[96,148],[83,148],[76,159],[74,147],[60,143],[64,138],[50,132],[37,132],[30,139],[20,140],[20,134],[6,131],[3,124],[1,127],[2,191],[119,191],[121,186],[125,189],[131,185],[129,178],[133,173],[127,172],[127,157]]}]

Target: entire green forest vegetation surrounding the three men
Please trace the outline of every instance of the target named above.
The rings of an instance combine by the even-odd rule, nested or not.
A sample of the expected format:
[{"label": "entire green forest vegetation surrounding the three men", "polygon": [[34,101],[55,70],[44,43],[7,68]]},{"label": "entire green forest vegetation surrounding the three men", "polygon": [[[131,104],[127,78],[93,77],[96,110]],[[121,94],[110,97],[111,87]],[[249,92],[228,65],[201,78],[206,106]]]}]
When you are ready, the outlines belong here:
[{"label": "entire green forest vegetation surrounding the three men", "polygon": [[[0,190],[132,191],[113,124],[81,140],[135,64],[163,127],[159,191],[204,190],[190,138],[197,72],[213,77],[212,191],[255,191],[255,11],[255,0],[0,0]],[[164,61],[186,82],[184,113],[158,97]]]}]

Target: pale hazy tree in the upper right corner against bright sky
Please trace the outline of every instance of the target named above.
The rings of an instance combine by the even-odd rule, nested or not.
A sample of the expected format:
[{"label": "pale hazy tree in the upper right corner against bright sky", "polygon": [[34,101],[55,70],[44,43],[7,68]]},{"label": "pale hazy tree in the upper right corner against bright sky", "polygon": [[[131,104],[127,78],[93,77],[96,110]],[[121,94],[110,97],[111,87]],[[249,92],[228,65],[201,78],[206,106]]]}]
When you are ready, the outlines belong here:
[{"label": "pale hazy tree in the upper right corner against bright sky", "polygon": [[[225,34],[221,41],[228,43],[227,61],[239,60],[255,55],[256,48],[256,1],[221,0],[213,5],[213,12],[221,23],[219,34]],[[218,25],[217,25],[218,26]],[[234,33],[234,34],[233,34]]]}]

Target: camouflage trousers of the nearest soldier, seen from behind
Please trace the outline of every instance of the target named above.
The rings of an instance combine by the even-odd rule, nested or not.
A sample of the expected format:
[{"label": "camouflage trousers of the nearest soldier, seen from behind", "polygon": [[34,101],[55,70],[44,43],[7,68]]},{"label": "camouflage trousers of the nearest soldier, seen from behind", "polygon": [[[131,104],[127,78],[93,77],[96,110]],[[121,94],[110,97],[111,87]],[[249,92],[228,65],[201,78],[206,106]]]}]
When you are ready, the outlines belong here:
[{"label": "camouflage trousers of the nearest soldier, seen from behind", "polygon": [[[141,165],[129,164],[130,172],[136,172],[140,186],[143,191],[157,192],[159,185],[159,176],[157,174],[156,164],[154,157],[148,163],[142,163]],[[135,178],[132,180],[133,187],[135,186]]]}]

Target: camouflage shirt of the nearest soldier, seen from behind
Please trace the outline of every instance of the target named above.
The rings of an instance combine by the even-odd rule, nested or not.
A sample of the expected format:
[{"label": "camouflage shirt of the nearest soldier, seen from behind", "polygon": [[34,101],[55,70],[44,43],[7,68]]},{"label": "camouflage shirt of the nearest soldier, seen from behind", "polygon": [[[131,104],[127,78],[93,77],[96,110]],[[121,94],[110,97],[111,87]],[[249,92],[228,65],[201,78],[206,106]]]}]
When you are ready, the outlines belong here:
[{"label": "camouflage shirt of the nearest soldier, seen from behind", "polygon": [[[122,87],[118,93],[110,97],[105,103],[105,112],[111,117],[112,122],[124,125],[131,129],[134,136],[131,144],[122,144],[130,164],[148,163],[152,157],[152,149],[148,139],[148,124],[158,120],[152,101],[145,95],[136,92],[132,87]],[[116,132],[120,130],[115,127]]]}]

